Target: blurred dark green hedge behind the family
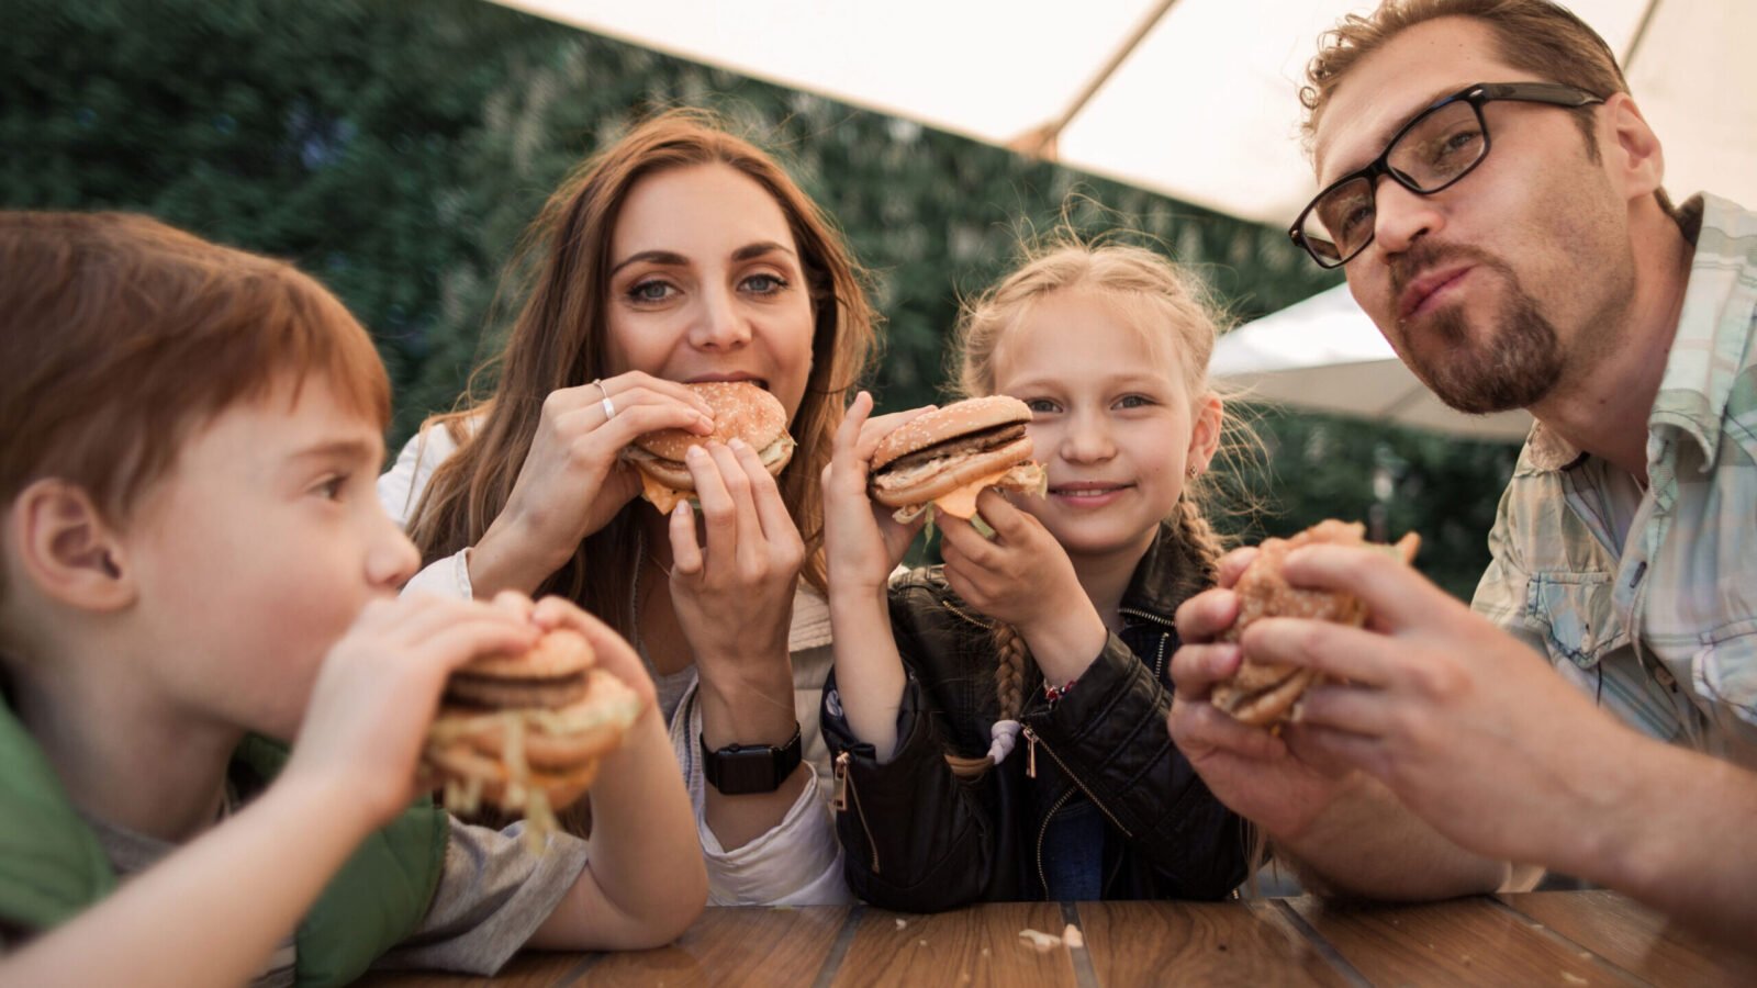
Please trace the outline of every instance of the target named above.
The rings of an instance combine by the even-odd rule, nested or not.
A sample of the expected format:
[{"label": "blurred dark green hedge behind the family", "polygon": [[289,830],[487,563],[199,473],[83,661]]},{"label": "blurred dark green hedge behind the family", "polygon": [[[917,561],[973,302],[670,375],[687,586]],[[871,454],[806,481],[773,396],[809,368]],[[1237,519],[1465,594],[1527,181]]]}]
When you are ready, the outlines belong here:
[{"label": "blurred dark green hedge behind the family", "polygon": [[[887,316],[884,408],[940,397],[958,299],[1063,222],[1193,265],[1239,320],[1335,283],[1269,227],[481,0],[0,0],[0,204],[139,209],[299,262],[372,329],[394,443],[499,346],[503,265],[548,192],[666,105],[722,113],[847,232]],[[1288,512],[1246,536],[1379,512],[1469,592],[1509,450],[1297,415],[1263,432],[1274,476],[1240,480]]]}]

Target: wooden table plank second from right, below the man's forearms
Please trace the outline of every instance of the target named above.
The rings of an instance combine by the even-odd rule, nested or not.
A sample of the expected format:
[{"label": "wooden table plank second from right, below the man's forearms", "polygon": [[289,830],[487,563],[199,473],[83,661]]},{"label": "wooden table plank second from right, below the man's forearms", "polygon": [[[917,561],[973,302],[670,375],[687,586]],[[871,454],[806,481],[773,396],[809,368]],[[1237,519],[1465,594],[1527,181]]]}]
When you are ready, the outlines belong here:
[{"label": "wooden table plank second from right, below the man's forearms", "polygon": [[1608,962],[1486,897],[1425,905],[1283,900],[1374,984],[1625,984]]}]

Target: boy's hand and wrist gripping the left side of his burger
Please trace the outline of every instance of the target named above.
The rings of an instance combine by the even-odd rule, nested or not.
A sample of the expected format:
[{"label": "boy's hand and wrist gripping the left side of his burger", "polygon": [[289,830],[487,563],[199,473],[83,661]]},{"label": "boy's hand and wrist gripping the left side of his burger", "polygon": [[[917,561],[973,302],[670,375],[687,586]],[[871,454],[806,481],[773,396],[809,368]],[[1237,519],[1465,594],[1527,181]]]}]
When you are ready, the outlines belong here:
[{"label": "boy's hand and wrist gripping the left side of his burger", "polygon": [[536,643],[538,626],[506,599],[515,596],[369,603],[318,670],[283,777],[332,784],[337,807],[358,809],[367,832],[395,817],[415,798],[415,766],[452,670]]}]

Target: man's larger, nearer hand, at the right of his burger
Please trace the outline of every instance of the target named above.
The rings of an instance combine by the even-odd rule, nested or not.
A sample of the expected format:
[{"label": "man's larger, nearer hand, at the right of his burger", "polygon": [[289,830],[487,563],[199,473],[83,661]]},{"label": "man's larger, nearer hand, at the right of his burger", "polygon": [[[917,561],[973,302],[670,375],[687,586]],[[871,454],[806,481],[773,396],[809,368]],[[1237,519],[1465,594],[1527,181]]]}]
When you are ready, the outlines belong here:
[{"label": "man's larger, nearer hand, at the right of his burger", "polygon": [[1253,659],[1337,680],[1307,691],[1293,752],[1367,772],[1471,851],[1565,861],[1569,821],[1609,809],[1602,782],[1638,735],[1383,552],[1307,547],[1284,571],[1295,585],[1353,592],[1370,612],[1365,628],[1263,619],[1244,633]]}]

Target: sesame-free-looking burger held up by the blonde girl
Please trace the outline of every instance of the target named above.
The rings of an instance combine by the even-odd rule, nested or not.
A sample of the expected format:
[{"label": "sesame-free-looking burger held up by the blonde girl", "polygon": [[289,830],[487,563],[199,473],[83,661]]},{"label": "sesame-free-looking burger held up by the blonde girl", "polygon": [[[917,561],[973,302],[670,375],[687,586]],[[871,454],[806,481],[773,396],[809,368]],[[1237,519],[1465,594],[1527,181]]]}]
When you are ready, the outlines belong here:
[{"label": "sesame-free-looking burger held up by the blonde girl", "polygon": [[908,522],[936,506],[959,519],[977,513],[984,487],[1044,496],[1049,480],[1031,462],[1024,434],[1031,410],[1016,397],[972,397],[901,424],[873,450],[868,492]]}]

